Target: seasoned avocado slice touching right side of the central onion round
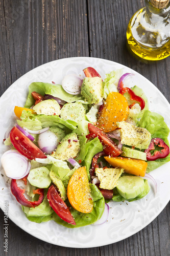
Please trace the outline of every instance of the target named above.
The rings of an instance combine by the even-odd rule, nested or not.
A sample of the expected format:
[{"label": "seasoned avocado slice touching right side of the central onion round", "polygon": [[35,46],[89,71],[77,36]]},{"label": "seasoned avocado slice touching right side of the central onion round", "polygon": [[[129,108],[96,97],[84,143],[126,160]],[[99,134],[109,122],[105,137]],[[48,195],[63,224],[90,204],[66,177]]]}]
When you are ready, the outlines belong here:
[{"label": "seasoned avocado slice touching right side of the central onion round", "polygon": [[67,134],[58,145],[56,152],[52,154],[59,160],[67,160],[69,158],[74,158],[78,155],[80,151],[80,144],[76,133]]}]

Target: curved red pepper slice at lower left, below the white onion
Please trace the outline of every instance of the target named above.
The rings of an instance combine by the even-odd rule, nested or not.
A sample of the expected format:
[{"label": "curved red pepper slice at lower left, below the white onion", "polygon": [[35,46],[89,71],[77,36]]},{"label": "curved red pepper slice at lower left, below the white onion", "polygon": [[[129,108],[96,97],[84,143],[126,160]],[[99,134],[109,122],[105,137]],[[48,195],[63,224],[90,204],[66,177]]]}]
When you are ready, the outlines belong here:
[{"label": "curved red pepper slice at lower left, below the white onion", "polygon": [[44,198],[43,190],[44,190],[43,188],[38,188],[36,190],[33,190],[34,194],[40,195],[39,199],[38,199],[38,201],[29,201],[23,195],[25,193],[26,189],[22,189],[22,188],[18,187],[15,179],[11,180],[11,192],[14,195],[14,197],[16,198],[16,200],[18,201],[18,203],[20,203],[23,206],[35,208],[35,206],[38,206],[40,203],[42,203],[42,200]]}]

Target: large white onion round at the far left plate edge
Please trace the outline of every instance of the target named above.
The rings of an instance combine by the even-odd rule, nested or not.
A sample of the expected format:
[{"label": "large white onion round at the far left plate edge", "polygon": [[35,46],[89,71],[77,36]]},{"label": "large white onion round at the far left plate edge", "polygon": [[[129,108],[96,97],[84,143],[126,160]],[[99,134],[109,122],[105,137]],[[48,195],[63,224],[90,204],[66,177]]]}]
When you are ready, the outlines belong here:
[{"label": "large white onion round at the far left plate edge", "polygon": [[1,157],[5,174],[11,179],[21,179],[25,177],[31,169],[28,158],[22,156],[17,150],[6,151]]}]

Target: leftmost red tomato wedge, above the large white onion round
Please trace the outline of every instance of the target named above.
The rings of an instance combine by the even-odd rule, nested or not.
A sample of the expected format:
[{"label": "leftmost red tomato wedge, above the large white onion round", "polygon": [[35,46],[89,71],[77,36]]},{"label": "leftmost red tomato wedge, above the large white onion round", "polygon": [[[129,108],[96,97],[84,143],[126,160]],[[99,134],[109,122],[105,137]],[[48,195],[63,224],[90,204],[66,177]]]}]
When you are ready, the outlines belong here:
[{"label": "leftmost red tomato wedge, above the large white onion round", "polygon": [[28,159],[46,158],[44,153],[29,138],[20,132],[17,127],[12,128],[10,139],[16,150]]}]

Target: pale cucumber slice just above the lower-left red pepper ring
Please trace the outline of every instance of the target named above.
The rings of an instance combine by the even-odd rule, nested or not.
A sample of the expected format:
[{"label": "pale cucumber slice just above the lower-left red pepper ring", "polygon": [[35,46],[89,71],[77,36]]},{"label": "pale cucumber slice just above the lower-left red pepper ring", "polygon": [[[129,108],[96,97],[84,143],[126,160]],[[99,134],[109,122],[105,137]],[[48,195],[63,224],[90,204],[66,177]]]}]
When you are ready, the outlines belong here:
[{"label": "pale cucumber slice just above the lower-left red pepper ring", "polygon": [[47,188],[50,186],[52,180],[49,176],[50,170],[48,170],[45,166],[38,167],[30,170],[28,181],[32,186],[39,188]]}]

